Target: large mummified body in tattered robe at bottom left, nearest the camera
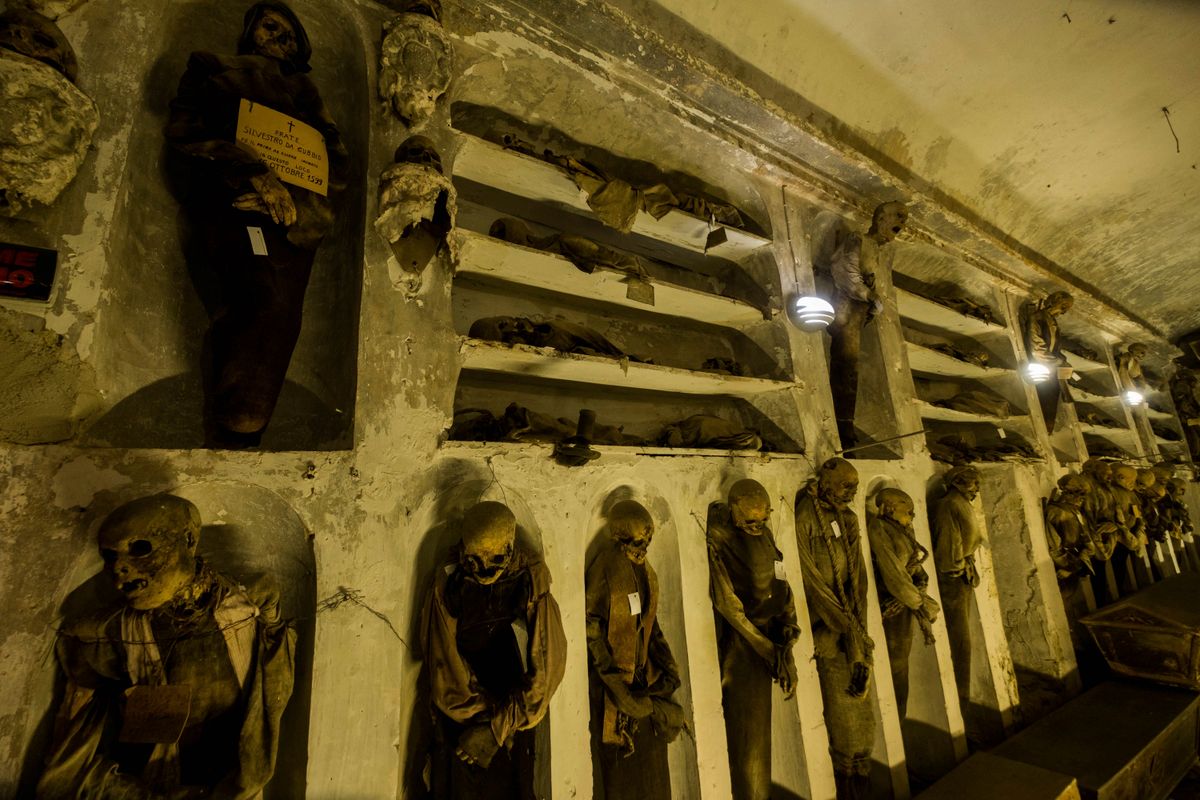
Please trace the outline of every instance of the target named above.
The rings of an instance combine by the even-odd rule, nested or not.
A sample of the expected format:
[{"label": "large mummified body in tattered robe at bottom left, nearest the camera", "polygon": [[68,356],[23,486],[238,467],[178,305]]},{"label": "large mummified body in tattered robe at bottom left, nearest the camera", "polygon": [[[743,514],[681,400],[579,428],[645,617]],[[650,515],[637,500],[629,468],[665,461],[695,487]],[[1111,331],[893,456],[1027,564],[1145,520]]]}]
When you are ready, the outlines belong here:
[{"label": "large mummified body in tattered robe at bottom left, nearest the camera", "polygon": [[68,620],[66,691],[38,796],[254,798],[275,771],[295,632],[278,593],[196,555],[200,516],[156,494],[100,528],[124,602]]}]

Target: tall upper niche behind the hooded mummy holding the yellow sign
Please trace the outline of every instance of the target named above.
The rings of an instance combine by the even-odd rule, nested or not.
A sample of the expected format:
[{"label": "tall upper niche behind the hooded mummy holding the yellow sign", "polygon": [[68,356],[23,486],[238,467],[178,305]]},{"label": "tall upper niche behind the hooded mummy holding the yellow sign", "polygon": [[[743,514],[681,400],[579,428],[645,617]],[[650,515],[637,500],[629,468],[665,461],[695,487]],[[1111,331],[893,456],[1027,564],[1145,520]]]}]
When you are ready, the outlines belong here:
[{"label": "tall upper niche behind the hooded mummy holding the yellow sign", "polygon": [[[205,302],[212,277],[190,258],[194,235],[178,203],[184,186],[173,174],[162,131],[188,55],[234,54],[251,5],[174,0],[161,10],[161,38],[130,49],[142,102],[127,134],[133,155],[120,180],[122,199],[103,242],[108,267],[91,351],[97,389],[110,399],[83,434],[89,444],[203,446]],[[350,444],[355,401],[371,108],[367,48],[348,4],[294,0],[290,6],[312,42],[310,74],[342,133],[350,167],[348,188],[335,201],[336,225],[317,251],[300,339],[262,446],[336,450]]]}]

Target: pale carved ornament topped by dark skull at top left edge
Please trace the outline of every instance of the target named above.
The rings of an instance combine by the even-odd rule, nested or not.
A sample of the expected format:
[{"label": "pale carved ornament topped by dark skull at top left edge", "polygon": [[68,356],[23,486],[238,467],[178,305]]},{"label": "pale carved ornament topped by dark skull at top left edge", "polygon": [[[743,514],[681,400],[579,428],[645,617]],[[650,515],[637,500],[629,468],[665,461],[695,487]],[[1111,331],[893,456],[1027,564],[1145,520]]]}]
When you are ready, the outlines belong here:
[{"label": "pale carved ornament topped by dark skull at top left edge", "polygon": [[0,213],[50,204],[79,172],[100,125],[72,83],[74,52],[31,11],[0,14]]}]

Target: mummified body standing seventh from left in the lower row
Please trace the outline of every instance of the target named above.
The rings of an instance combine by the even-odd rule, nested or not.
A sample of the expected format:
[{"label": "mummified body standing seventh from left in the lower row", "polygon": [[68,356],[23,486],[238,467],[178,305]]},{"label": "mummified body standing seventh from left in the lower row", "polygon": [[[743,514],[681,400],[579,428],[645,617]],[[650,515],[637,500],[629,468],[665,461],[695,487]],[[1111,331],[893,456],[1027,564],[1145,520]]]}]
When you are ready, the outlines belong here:
[{"label": "mummified body standing seventh from left in the lower row", "polygon": [[965,699],[971,693],[971,594],[979,585],[974,553],[983,541],[971,505],[979,494],[979,471],[974,467],[955,467],[944,481],[946,494],[934,507],[930,528],[954,681],[959,697]]}]

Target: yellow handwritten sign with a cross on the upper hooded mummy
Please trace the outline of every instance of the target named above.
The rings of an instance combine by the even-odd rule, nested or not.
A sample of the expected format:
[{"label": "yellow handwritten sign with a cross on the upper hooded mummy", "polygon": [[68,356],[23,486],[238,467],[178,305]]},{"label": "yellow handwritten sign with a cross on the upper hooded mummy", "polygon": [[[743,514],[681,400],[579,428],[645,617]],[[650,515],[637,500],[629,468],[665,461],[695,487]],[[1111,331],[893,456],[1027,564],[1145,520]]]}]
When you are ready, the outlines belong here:
[{"label": "yellow handwritten sign with a cross on the upper hooded mummy", "polygon": [[242,98],[238,108],[238,144],[253,150],[284,184],[329,193],[325,137],[311,125]]}]

